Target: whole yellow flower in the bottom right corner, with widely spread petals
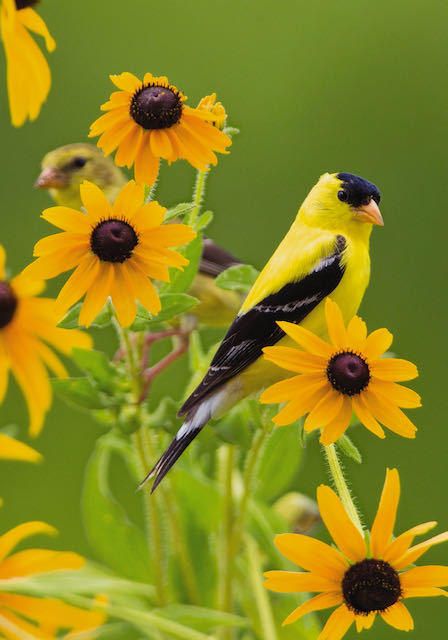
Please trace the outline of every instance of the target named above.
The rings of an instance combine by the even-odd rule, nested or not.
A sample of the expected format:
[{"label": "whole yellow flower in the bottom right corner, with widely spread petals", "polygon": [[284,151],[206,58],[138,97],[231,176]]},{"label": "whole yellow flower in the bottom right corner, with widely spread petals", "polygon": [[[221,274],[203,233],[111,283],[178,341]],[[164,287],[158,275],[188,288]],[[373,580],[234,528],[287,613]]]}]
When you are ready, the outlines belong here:
[{"label": "whole yellow flower in the bottom right corner, with widely spread petals", "polygon": [[282,534],[275,545],[305,572],[268,571],[265,586],[282,593],[312,592],[318,595],[301,604],[283,622],[290,624],[306,613],[337,607],[318,640],[340,640],[352,623],[357,631],[370,629],[376,615],[402,631],[414,627],[405,598],[446,596],[448,567],[413,566],[435,544],[448,540],[448,532],[413,545],[414,538],[430,531],[426,522],[393,537],[400,478],[388,470],[370,537],[361,535],[335,492],[321,485],[317,501],[322,519],[337,549],[300,534]]}]

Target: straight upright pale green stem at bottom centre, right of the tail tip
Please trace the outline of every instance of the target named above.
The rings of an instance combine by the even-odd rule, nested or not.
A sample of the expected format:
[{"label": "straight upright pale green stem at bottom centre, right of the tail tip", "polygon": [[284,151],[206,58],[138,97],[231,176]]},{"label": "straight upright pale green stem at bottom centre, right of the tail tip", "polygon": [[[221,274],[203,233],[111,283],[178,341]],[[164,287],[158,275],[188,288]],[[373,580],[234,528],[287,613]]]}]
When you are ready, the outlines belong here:
[{"label": "straight upright pale green stem at bottom centre, right of the tail tip", "polygon": [[[218,608],[221,611],[232,613],[233,609],[233,467],[235,462],[235,447],[226,445],[220,451],[221,484],[224,490],[224,509],[221,533],[221,548],[219,558],[219,584],[218,584]],[[224,627],[220,631],[221,640],[231,640],[232,629]]]}]

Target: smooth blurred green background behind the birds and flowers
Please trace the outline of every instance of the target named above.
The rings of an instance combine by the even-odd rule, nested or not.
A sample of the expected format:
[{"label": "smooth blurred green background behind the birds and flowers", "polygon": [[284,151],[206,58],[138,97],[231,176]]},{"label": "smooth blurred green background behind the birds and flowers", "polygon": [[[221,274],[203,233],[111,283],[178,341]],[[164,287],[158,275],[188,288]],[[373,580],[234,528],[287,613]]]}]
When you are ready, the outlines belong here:
[{"label": "smooth blurred green background behind the birds and flowers", "polygon": [[[53,89],[35,124],[10,126],[1,66],[0,242],[11,269],[25,266],[33,243],[50,231],[39,219],[48,196],[32,187],[40,159],[85,138],[111,90],[109,73],[166,74],[193,104],[218,92],[241,135],[210,179],[211,233],[246,262],[264,263],[321,173],[350,171],[372,180],[383,193],[386,224],[373,236],[373,277],[362,314],[370,328],[389,327],[395,350],[419,364],[416,388],[424,407],[415,415],[416,441],[393,435],[379,441],[359,430],[355,440],[365,463],[350,464],[350,478],[370,518],[386,466],[398,466],[404,488],[399,528],[432,519],[447,528],[448,4],[42,0],[40,11],[58,49],[51,56]],[[188,199],[192,179],[183,163],[164,167],[160,200]],[[55,283],[50,290],[57,290]],[[175,385],[182,371],[164,384]],[[0,423],[18,424],[26,437],[24,404],[14,387]],[[57,546],[88,554],[79,501],[98,433],[88,416],[57,401],[35,443],[45,462],[0,465],[1,529],[46,520],[60,529]],[[313,495],[325,479],[313,443],[299,489]],[[446,562],[446,547],[427,559]],[[411,601],[410,608],[417,627],[412,638],[443,636],[446,602]],[[370,635],[396,634],[380,623]]]}]

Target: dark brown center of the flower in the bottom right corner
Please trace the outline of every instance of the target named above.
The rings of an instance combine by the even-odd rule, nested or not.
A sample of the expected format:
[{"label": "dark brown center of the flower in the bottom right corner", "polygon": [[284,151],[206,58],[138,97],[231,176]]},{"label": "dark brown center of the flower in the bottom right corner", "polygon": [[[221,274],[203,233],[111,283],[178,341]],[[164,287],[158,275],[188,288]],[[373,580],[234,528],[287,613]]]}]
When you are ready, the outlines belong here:
[{"label": "dark brown center of the flower in the bottom right corner", "polygon": [[342,580],[347,607],[357,614],[385,611],[402,595],[400,578],[384,560],[368,559],[350,567]]}]

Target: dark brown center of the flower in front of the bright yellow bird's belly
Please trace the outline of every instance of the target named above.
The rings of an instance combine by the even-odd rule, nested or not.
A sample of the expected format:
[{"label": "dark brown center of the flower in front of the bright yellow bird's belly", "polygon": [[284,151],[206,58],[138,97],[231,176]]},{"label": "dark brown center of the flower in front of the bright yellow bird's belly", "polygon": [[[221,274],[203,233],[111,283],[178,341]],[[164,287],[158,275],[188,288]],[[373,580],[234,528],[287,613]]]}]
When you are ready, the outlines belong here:
[{"label": "dark brown center of the flower in front of the bright yellow bird's belly", "polygon": [[336,391],[354,396],[369,384],[369,365],[361,356],[351,351],[337,353],[328,363],[327,377]]}]

